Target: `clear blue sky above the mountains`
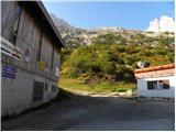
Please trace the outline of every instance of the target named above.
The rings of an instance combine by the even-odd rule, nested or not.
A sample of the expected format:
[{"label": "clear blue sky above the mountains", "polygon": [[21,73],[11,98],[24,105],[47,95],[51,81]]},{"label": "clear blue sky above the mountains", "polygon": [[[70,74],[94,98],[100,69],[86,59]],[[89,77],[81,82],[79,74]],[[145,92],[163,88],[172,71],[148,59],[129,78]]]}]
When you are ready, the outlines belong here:
[{"label": "clear blue sky above the mountains", "polygon": [[146,30],[162,15],[174,18],[172,1],[43,1],[46,10],[77,28],[119,26]]}]

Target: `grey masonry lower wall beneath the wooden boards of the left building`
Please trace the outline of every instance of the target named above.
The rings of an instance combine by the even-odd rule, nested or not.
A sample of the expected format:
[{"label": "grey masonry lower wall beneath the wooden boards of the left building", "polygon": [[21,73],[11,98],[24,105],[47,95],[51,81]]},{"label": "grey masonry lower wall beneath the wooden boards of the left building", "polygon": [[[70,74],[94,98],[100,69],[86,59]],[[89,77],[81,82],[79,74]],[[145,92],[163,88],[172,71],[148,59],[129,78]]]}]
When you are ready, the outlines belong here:
[{"label": "grey masonry lower wall beneath the wooden boards of the left building", "polygon": [[[4,65],[7,64],[2,64],[2,67]],[[14,68],[16,69],[15,79],[2,78],[2,116],[20,113],[25,109],[47,102],[57,95],[58,89],[52,91],[52,85],[57,85],[55,81],[18,67]],[[33,85],[35,80],[47,84],[47,90],[43,90],[43,100],[36,102],[33,101]]]}]

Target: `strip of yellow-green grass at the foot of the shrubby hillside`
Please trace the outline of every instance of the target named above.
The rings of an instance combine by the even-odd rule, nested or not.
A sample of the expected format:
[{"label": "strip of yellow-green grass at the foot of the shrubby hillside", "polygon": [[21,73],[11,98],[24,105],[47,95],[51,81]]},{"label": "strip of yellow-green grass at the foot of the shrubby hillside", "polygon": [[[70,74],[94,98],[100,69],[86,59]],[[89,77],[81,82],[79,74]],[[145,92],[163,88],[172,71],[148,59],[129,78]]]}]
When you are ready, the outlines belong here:
[{"label": "strip of yellow-green grass at the foot of the shrubby hillside", "polygon": [[135,89],[136,84],[132,82],[99,82],[99,84],[85,84],[84,80],[76,78],[64,78],[59,79],[59,87],[66,90],[78,90],[78,91],[90,91],[90,92],[120,92],[125,91],[127,89]]}]

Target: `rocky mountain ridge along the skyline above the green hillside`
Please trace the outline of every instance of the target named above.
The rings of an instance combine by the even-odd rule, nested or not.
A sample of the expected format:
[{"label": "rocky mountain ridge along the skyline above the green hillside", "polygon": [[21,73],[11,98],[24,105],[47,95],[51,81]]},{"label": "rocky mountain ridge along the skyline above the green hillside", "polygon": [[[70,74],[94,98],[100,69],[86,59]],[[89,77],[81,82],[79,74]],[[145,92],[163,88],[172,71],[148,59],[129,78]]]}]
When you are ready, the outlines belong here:
[{"label": "rocky mountain ridge along the skyline above the green hillside", "polygon": [[[148,37],[155,37],[155,36],[161,35],[161,33],[163,33],[163,32],[158,33],[158,32],[153,32],[153,31],[155,31],[155,30],[158,31],[157,29],[161,29],[160,26],[163,28],[162,31],[165,31],[164,23],[169,22],[169,21],[172,23],[172,20],[164,16],[161,19],[161,21],[154,20],[153,22],[151,22],[147,31],[127,30],[127,29],[122,29],[122,28],[106,28],[106,26],[80,29],[80,28],[75,28],[75,26],[68,24],[66,21],[57,18],[54,14],[51,14],[51,18],[53,19],[53,21],[54,21],[56,28],[58,29],[66,45],[72,48],[78,47],[80,45],[89,45],[95,42],[95,37],[100,36],[100,35],[102,35],[102,37],[103,37],[105,34],[114,34],[114,36],[117,36],[117,37],[119,35],[122,35],[123,40],[125,40],[127,42],[138,35],[145,35]],[[172,30],[172,26],[169,29]],[[174,36],[173,33],[169,33],[167,35]]]}]

